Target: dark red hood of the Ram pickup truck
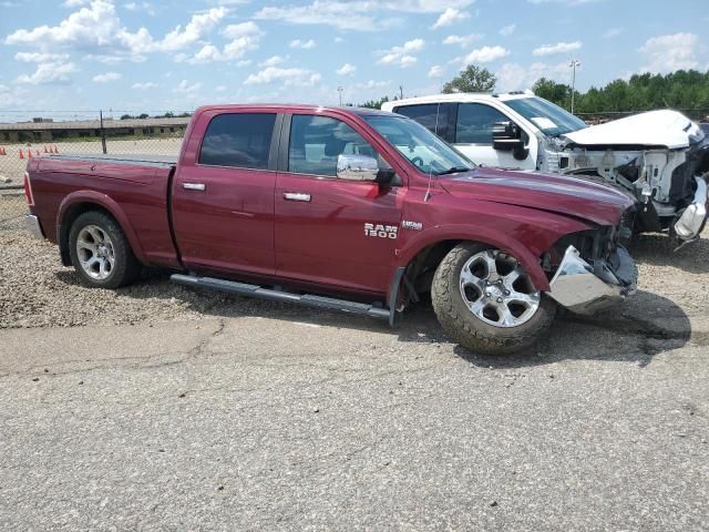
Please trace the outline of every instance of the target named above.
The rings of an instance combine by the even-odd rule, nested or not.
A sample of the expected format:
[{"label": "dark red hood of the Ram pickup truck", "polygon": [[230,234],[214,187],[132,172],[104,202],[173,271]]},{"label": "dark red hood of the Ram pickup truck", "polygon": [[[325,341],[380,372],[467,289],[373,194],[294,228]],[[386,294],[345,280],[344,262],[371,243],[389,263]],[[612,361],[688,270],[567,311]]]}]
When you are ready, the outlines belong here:
[{"label": "dark red hood of the Ram pickup truck", "polygon": [[441,178],[450,194],[574,216],[598,225],[617,225],[634,202],[607,185],[541,172],[479,167]]}]

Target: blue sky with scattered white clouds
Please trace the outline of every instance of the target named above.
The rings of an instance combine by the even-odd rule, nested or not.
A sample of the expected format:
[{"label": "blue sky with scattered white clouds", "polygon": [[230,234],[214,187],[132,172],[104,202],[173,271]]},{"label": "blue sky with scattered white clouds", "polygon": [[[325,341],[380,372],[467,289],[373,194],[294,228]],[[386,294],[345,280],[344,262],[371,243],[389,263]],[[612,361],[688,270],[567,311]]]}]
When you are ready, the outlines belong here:
[{"label": "blue sky with scattered white clouds", "polygon": [[708,70],[706,2],[0,0],[0,121],[425,95],[469,63],[499,92],[571,83],[572,59],[580,90]]}]

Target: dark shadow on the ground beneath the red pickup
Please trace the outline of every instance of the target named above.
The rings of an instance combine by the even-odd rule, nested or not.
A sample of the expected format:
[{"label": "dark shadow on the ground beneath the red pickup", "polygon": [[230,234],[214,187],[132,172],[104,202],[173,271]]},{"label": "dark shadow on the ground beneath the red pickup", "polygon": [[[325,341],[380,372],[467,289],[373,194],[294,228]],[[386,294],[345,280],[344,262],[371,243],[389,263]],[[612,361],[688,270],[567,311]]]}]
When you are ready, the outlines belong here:
[{"label": "dark shadow on the ground beneath the red pickup", "polygon": [[[78,284],[73,272],[58,272],[56,275],[63,283]],[[383,321],[362,316],[187,289],[171,284],[167,274],[161,272],[148,270],[142,283],[117,291],[122,297],[135,299],[177,300],[192,311],[212,317],[299,321],[393,335],[401,342],[440,345],[444,350],[450,346],[460,358],[484,368],[523,368],[562,360],[608,360],[646,366],[654,356],[680,348],[691,337],[691,324],[680,307],[670,299],[644,290],[605,316],[586,318],[562,313],[549,332],[535,346],[507,356],[481,355],[456,346],[441,329],[430,301],[408,309],[397,326],[390,328]]]}]

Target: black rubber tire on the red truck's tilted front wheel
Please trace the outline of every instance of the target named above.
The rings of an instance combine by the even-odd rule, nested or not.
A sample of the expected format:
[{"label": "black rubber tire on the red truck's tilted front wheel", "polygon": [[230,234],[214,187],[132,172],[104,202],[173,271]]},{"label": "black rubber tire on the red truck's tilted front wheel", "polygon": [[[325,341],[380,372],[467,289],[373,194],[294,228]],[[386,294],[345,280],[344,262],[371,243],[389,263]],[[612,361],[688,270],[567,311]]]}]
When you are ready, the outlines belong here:
[{"label": "black rubber tire on the red truck's tilted front wheel", "polygon": [[510,355],[536,342],[551,327],[556,303],[542,294],[536,313],[516,327],[495,327],[475,316],[463,301],[460,275],[466,260],[491,246],[465,243],[451,249],[439,265],[431,300],[433,310],[446,335],[464,348],[483,355]]}]

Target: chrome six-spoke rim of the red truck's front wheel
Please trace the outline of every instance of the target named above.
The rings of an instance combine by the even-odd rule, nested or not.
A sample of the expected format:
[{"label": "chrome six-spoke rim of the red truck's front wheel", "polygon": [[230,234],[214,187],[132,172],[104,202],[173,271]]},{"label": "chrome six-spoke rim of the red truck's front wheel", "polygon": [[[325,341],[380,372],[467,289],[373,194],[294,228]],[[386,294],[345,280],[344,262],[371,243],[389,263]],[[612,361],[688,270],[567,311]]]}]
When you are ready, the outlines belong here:
[{"label": "chrome six-spoke rim of the red truck's front wheel", "polygon": [[480,252],[461,269],[463,303],[482,321],[517,327],[540,308],[541,294],[522,265],[499,249]]}]

